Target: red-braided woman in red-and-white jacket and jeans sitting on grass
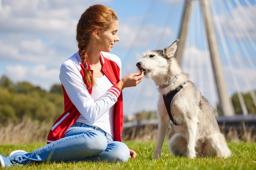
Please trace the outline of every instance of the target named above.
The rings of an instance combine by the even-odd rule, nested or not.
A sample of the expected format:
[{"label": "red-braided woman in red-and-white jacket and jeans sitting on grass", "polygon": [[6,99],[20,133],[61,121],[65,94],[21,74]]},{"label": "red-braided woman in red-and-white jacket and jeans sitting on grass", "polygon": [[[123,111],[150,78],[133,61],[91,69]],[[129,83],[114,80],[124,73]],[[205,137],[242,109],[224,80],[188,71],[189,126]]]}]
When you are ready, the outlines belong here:
[{"label": "red-braided woman in red-and-white jacket and jeans sitting on grass", "polygon": [[90,6],[77,25],[78,52],[60,68],[64,113],[48,135],[48,145],[27,153],[0,156],[2,166],[45,161],[126,162],[136,152],[122,143],[122,89],[136,86],[143,72],[121,76],[120,59],[110,52],[117,35],[116,13]]}]

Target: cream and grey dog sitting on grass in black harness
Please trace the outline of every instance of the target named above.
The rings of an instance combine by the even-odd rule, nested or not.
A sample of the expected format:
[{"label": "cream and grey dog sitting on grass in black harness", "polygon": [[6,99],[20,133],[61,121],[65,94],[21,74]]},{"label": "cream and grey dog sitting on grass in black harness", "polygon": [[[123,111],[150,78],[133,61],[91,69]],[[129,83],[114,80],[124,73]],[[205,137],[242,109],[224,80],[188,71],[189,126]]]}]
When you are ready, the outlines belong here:
[{"label": "cream and grey dog sitting on grass in black harness", "polygon": [[[163,50],[144,53],[143,59],[136,63],[138,70],[143,70],[144,76],[154,80],[161,94],[158,100],[158,136],[153,158],[160,158],[170,125],[175,133],[168,143],[168,148],[174,156],[227,158],[231,151],[220,132],[213,108],[188,80],[188,74],[182,72],[173,57],[177,47],[178,40]],[[178,92],[170,102],[168,94],[175,90]],[[166,96],[169,100],[167,105],[164,101]],[[171,111],[172,121],[168,110]]]}]

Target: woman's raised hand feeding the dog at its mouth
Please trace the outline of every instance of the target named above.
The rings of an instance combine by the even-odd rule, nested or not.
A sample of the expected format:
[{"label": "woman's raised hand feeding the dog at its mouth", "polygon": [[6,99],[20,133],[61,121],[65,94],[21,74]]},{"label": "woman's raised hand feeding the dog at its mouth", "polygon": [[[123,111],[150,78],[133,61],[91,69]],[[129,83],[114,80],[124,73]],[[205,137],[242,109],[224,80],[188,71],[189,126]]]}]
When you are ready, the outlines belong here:
[{"label": "woman's raised hand feeding the dog at its mouth", "polygon": [[143,70],[137,73],[128,74],[124,76],[116,86],[118,86],[118,88],[120,88],[121,90],[123,90],[126,87],[137,86],[141,82],[143,76]]}]

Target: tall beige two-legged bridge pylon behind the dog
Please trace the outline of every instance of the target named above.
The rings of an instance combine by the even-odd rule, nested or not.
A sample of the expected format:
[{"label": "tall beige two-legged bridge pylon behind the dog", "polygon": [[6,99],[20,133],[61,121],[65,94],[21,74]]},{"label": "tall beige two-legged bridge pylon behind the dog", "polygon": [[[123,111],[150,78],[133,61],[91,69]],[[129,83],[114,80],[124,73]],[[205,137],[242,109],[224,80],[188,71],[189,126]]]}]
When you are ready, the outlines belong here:
[{"label": "tall beige two-legged bridge pylon behind the dog", "polygon": [[[224,73],[222,69],[222,63],[220,59],[220,52],[218,49],[218,42],[214,30],[214,24],[212,20],[212,13],[210,9],[209,0],[200,0],[200,7],[202,10],[202,16],[204,19],[204,26],[206,29],[206,36],[208,41],[208,47],[210,52],[211,64],[214,72],[214,78],[216,82],[219,105],[221,114],[224,116],[232,116],[235,115],[234,106],[232,105],[231,99],[228,96],[228,90],[224,78]],[[180,26],[179,33],[179,46],[176,51],[176,59],[179,64],[182,61],[182,55],[184,51],[184,47],[186,44],[186,37],[188,33],[190,14],[192,10],[194,0],[185,0],[184,8],[183,8],[183,16],[182,22]]]}]

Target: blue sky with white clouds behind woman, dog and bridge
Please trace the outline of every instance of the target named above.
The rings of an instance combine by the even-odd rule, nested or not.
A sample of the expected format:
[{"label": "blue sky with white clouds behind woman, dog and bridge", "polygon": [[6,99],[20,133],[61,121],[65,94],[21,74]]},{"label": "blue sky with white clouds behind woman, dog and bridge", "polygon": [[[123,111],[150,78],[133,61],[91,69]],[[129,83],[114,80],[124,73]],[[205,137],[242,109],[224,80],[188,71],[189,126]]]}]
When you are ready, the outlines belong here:
[{"label": "blue sky with white clouds behind woman, dog and bridge", "polygon": [[[0,0],[0,76],[50,90],[60,84],[60,65],[78,50],[76,24],[93,4],[118,15],[120,41],[111,53],[122,61],[123,76],[138,72],[147,50],[163,49],[178,39],[184,0]],[[256,89],[255,0],[211,0],[212,16],[228,94]],[[210,54],[198,0],[190,25],[182,69],[210,101],[218,103]],[[156,111],[159,93],[144,78],[125,88],[124,114]],[[60,111],[61,112],[61,111]]]}]

